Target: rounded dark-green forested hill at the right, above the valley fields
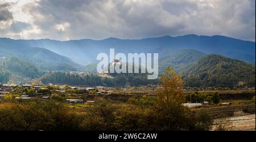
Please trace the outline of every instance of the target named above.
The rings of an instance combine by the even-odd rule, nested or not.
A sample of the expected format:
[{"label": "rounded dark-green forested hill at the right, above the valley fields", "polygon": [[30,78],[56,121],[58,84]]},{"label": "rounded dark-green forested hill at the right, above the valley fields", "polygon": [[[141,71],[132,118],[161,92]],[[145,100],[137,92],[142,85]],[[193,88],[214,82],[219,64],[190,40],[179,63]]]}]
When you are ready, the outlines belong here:
[{"label": "rounded dark-green forested hill at the right, above the valley fields", "polygon": [[237,87],[242,81],[255,87],[255,64],[230,59],[221,55],[205,55],[182,72],[188,87]]}]

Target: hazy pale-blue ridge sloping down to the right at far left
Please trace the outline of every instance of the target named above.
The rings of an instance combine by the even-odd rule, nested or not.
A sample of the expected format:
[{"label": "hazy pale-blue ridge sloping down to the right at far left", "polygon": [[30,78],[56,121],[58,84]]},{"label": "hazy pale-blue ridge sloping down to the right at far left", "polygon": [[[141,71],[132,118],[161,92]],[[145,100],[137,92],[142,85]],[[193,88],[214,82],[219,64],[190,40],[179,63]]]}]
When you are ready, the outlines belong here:
[{"label": "hazy pale-blue ridge sloping down to the right at far left", "polygon": [[[46,70],[59,70],[59,68],[64,70],[72,68],[72,70],[76,70],[75,67],[81,67],[81,65],[73,62],[71,59],[48,49],[29,47],[9,41],[13,40],[5,38],[5,42],[0,42],[0,58],[17,57],[25,62],[35,63]],[[65,69],[65,67],[68,69]]]}]

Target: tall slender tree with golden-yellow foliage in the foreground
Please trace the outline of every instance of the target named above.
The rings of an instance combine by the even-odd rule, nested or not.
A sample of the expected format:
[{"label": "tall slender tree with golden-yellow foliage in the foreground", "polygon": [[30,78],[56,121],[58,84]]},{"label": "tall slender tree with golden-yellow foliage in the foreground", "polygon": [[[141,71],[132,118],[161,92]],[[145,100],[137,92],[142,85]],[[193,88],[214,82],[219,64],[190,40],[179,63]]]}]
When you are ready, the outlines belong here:
[{"label": "tall slender tree with golden-yellow foliage in the foreground", "polygon": [[157,129],[189,130],[189,109],[182,105],[185,96],[182,92],[181,75],[176,74],[174,68],[167,67],[159,80],[155,112]]}]

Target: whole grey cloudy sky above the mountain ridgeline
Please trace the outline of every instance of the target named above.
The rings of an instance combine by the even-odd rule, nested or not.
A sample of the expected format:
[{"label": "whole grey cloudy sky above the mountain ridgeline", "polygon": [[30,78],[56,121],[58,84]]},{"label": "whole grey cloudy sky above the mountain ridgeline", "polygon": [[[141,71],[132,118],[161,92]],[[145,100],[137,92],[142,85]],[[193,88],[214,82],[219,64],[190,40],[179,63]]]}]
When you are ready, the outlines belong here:
[{"label": "whole grey cloudy sky above the mountain ridgeline", "polygon": [[223,35],[255,41],[255,0],[0,0],[0,37]]}]

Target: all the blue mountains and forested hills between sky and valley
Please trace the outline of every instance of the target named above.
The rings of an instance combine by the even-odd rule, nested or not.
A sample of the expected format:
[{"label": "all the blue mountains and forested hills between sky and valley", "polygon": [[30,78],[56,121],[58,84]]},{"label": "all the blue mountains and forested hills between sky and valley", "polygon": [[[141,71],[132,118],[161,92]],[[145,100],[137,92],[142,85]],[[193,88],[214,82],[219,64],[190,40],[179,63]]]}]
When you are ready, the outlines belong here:
[{"label": "all the blue mountains and forested hills between sky and valley", "polygon": [[[0,38],[0,82],[29,82],[48,76],[45,80],[58,80],[58,77],[80,84],[72,76],[69,79],[70,76],[57,76],[62,74],[47,75],[48,71],[96,72],[97,54],[108,54],[109,48],[115,48],[115,53],[159,53],[159,73],[166,66],[173,66],[183,75],[183,80],[189,87],[231,88],[238,82],[255,87],[255,42],[224,36],[196,35],[141,40],[107,38],[55,41]],[[126,76],[121,75],[118,78],[130,80],[129,84],[137,85],[154,82],[147,82],[144,76],[125,79]],[[104,84],[108,85],[108,81]]]}]

